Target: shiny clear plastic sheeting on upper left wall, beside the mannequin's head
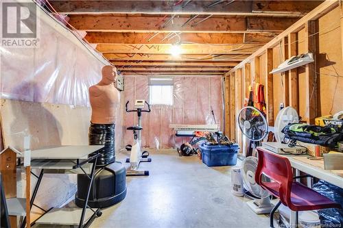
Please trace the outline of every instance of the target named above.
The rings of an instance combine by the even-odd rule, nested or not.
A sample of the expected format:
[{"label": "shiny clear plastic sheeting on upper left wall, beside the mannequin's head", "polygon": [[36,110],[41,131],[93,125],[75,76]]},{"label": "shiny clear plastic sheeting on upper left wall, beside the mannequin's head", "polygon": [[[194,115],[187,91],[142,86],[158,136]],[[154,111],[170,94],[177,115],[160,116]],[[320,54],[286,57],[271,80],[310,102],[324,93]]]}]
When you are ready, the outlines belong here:
[{"label": "shiny clear plastic sheeting on upper left wall, beside the mannequin's head", "polygon": [[89,106],[104,62],[45,12],[39,25],[38,47],[0,47],[1,98]]}]

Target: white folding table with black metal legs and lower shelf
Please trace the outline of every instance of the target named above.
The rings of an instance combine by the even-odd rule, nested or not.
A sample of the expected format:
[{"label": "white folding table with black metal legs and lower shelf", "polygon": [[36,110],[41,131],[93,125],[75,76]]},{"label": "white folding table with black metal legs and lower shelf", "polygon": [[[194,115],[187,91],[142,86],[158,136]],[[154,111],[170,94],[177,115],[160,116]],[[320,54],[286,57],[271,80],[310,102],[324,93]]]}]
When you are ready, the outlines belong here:
[{"label": "white folding table with black metal legs and lower shelf", "polygon": [[[59,146],[31,151],[31,167],[41,169],[39,176],[32,173],[38,178],[38,181],[32,193],[32,199],[30,201],[31,207],[34,205],[34,199],[36,198],[44,173],[78,173],[75,172],[75,170],[79,170],[88,175],[90,179],[85,200],[86,203],[82,209],[54,208],[45,212],[45,214],[34,223],[45,225],[78,225],[78,227],[84,228],[89,227],[97,216],[101,216],[99,208],[93,210],[91,207],[88,207],[88,197],[95,176],[97,157],[100,155],[98,151],[103,147],[103,145]],[[21,162],[19,163],[21,164]],[[78,219],[78,217],[80,217],[80,219]],[[23,223],[21,223],[21,227],[25,227],[25,218]]]}]

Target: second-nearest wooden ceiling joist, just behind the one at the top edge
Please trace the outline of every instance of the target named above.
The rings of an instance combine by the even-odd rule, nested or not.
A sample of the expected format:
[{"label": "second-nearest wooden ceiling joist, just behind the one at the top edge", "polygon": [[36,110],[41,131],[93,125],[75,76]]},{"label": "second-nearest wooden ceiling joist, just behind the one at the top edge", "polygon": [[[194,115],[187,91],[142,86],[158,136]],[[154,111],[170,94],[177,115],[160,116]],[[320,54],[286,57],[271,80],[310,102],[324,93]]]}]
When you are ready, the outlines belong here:
[{"label": "second-nearest wooden ceiling joist, just behind the one at the top edge", "polygon": [[[203,18],[196,18],[186,23],[189,17],[174,17],[173,23],[167,26],[163,23],[163,16],[70,16],[69,23],[75,29],[82,31],[115,31],[115,32],[204,32],[204,33],[232,33],[244,31],[283,31],[293,25],[298,18],[277,17],[211,17],[193,26],[193,22]],[[165,20],[167,21],[167,20]],[[182,25],[184,25],[182,27]]]}]

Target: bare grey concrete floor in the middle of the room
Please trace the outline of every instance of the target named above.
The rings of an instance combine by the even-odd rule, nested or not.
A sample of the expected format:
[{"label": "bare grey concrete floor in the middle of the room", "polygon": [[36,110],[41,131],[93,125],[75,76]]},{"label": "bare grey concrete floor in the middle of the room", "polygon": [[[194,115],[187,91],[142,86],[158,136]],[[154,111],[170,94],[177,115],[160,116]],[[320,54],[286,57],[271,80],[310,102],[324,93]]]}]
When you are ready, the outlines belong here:
[{"label": "bare grey concrete floor in the middle of the room", "polygon": [[[230,192],[230,166],[210,168],[174,150],[150,154],[152,163],[141,164],[150,176],[128,177],[126,199],[103,210],[92,228],[269,227],[267,216]],[[124,161],[126,152],[117,157]]]}]

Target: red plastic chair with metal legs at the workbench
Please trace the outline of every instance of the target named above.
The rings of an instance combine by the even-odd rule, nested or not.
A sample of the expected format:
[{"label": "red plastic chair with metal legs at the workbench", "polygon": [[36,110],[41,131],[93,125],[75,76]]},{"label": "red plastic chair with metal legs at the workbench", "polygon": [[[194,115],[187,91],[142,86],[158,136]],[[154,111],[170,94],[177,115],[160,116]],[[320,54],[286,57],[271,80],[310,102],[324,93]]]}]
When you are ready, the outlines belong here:
[{"label": "red plastic chair with metal legs at the workbench", "polygon": [[[270,227],[274,227],[274,212],[281,203],[296,212],[296,223],[298,223],[298,212],[300,211],[342,208],[339,203],[335,203],[315,190],[294,181],[296,177],[293,177],[292,166],[287,157],[261,147],[257,148],[257,152],[259,153],[259,163],[255,181],[274,197],[280,199],[270,212]],[[269,177],[272,182],[263,182],[263,175]]]}]

